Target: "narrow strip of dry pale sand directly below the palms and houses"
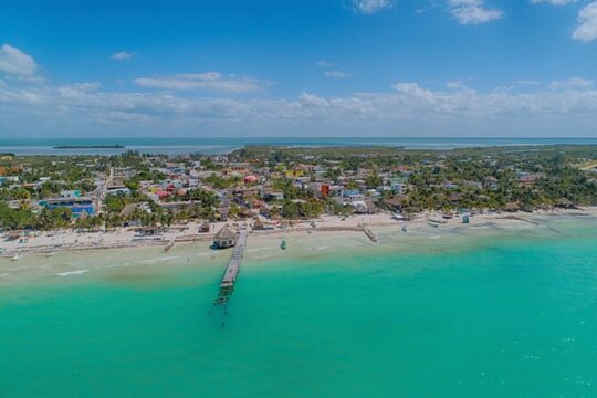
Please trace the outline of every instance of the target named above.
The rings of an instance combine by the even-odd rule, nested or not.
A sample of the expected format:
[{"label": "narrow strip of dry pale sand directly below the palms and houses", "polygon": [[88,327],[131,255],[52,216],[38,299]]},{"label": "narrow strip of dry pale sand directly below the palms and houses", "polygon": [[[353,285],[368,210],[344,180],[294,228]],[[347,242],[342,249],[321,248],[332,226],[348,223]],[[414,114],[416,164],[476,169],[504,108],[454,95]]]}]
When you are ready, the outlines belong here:
[{"label": "narrow strip of dry pale sand directly below the palms and houses", "polygon": [[[528,212],[512,212],[512,213],[484,213],[475,214],[470,218],[470,223],[464,224],[460,217],[454,217],[449,220],[444,220],[444,223],[438,226],[439,229],[444,228],[459,228],[467,229],[475,227],[480,223],[492,222],[494,224],[509,224],[509,223],[527,223],[537,228],[545,227],[541,222],[533,220],[533,218],[547,216],[567,216],[567,217],[597,217],[597,207],[583,208],[578,210],[540,210],[532,213]],[[423,212],[417,214],[410,221],[400,221],[392,219],[390,213],[383,212],[377,214],[363,214],[363,216],[324,216],[314,220],[304,220],[296,222],[292,227],[284,229],[275,228],[271,230],[252,230],[249,228],[249,239],[255,239],[258,237],[283,237],[283,235],[296,235],[296,234],[312,234],[312,233],[331,233],[331,232],[365,232],[365,228],[378,229],[385,227],[408,226],[409,229],[420,229],[427,227],[430,219],[441,218],[438,212]],[[344,220],[343,220],[344,219]],[[312,227],[312,222],[316,223],[316,227]],[[164,247],[168,251],[168,245],[171,243],[192,243],[192,242],[211,242],[216,233],[224,224],[241,224],[245,223],[250,226],[250,221],[239,222],[217,222],[212,223],[211,231],[208,233],[199,233],[199,226],[201,222],[189,222],[185,226],[174,226],[159,237],[155,238],[139,238],[135,235],[134,228],[117,228],[109,232],[76,232],[73,230],[61,230],[51,232],[39,232],[35,235],[29,238],[27,243],[20,243],[19,240],[2,241],[0,248],[4,251],[0,254],[2,258],[13,258],[14,255],[24,254],[48,254],[69,251],[93,251],[93,250],[109,250],[109,249],[132,249],[132,248],[148,248],[148,247]],[[553,229],[552,229],[553,230]],[[557,230],[553,230],[558,232]]]}]

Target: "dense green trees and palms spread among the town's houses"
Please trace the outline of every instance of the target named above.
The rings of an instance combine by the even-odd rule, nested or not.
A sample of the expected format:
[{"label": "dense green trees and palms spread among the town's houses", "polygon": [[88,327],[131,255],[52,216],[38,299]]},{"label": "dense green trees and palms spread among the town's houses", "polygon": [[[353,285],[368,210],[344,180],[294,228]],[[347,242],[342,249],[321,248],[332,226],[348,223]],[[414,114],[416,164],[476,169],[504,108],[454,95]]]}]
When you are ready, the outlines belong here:
[{"label": "dense green trees and palms spread among the town's houses", "polygon": [[[0,186],[0,228],[82,229],[112,228],[127,221],[143,226],[170,226],[189,219],[213,220],[229,201],[230,216],[243,217],[248,203],[235,201],[232,192],[243,187],[242,178],[224,171],[228,164],[268,170],[266,187],[283,193],[269,200],[271,217],[314,218],[324,212],[350,212],[333,197],[322,197],[313,182],[342,185],[365,193],[381,208],[399,207],[405,212],[427,209],[533,210],[554,206],[597,206],[597,146],[492,147],[453,150],[407,150],[389,147],[282,148],[249,146],[228,159],[192,155],[179,158],[125,153],[118,156],[25,156],[0,160],[0,178],[18,178],[18,184]],[[185,202],[172,210],[150,200],[143,184],[163,184],[169,166],[181,172],[210,170],[201,177],[202,188],[185,189],[165,197],[164,203]],[[78,190],[96,196],[98,178],[112,169],[129,170],[124,184],[130,193],[108,196],[97,216],[72,219],[71,210],[39,208],[36,202]],[[289,175],[300,170],[301,181]],[[394,179],[408,186],[406,192],[388,190]],[[205,189],[207,187],[207,189]],[[384,189],[380,189],[384,188]],[[220,192],[219,196],[216,192]],[[368,193],[367,193],[368,195]],[[123,214],[128,205],[145,203]],[[389,205],[388,205],[389,203]]]}]

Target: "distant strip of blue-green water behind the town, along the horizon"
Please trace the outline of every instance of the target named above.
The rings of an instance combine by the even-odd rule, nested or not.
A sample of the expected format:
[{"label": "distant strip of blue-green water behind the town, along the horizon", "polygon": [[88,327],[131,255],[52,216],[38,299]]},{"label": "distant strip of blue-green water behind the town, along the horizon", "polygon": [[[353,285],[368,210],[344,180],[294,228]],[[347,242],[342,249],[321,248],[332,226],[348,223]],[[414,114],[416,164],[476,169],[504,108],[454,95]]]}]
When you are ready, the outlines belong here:
[{"label": "distant strip of blue-green water behind the town, along the horizon", "polygon": [[[125,149],[54,149],[60,145],[124,145]],[[0,151],[17,155],[116,155],[126,150],[180,155],[223,154],[247,145],[280,146],[401,146],[407,149],[452,149],[512,145],[597,145],[597,138],[412,138],[412,137],[168,137],[168,138],[0,138]]]}]

